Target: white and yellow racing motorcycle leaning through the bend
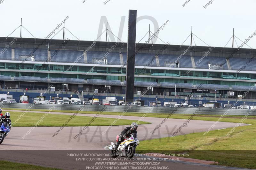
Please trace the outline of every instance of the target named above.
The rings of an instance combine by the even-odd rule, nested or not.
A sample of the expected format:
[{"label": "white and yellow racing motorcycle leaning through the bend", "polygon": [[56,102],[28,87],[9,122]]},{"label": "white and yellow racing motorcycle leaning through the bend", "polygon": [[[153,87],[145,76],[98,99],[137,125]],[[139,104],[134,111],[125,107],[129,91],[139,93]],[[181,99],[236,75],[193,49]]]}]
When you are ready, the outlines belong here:
[{"label": "white and yellow racing motorcycle leaning through the bend", "polygon": [[[116,142],[118,141],[118,137],[116,136]],[[118,146],[116,151],[114,150],[116,144],[114,142],[110,143],[112,146],[111,149],[111,157],[116,158],[118,155],[121,157],[126,157],[126,158],[132,158],[135,153],[135,148],[140,144],[140,141],[137,138],[137,133],[132,133],[131,137],[124,139],[124,141]]]}]

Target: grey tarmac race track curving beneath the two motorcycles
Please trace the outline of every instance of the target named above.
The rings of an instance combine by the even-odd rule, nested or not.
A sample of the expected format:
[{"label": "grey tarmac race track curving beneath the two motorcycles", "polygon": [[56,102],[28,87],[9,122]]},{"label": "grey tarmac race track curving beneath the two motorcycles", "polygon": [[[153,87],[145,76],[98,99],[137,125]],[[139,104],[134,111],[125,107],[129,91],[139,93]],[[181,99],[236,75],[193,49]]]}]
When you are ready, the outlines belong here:
[{"label": "grey tarmac race track curving beneath the two motorcycles", "polygon": [[[16,111],[15,111],[16,112]],[[22,112],[22,111],[17,111]],[[36,111],[31,111],[36,112]],[[36,113],[47,113],[47,112],[36,112]],[[51,114],[63,114],[63,115],[73,115],[72,113],[51,113]],[[93,114],[78,114],[78,116],[96,116]],[[116,115],[100,115],[99,117],[105,118],[117,118]],[[140,117],[137,116],[122,116],[121,119],[128,120],[138,120]],[[144,117],[143,121],[151,122],[151,124],[139,125],[138,128],[138,138],[139,140],[152,139],[152,138],[162,138],[171,137],[172,133],[178,129],[186,120],[184,119],[168,119],[162,127],[160,127],[154,134],[150,133],[163,118],[152,118]],[[87,124],[88,122],[85,122]],[[177,135],[185,135],[194,132],[204,132],[209,129],[214,122],[212,121],[200,121],[191,120],[187,127],[181,129],[181,133]],[[247,124],[242,124],[245,126]],[[229,122],[219,122],[213,129],[223,129],[235,127],[236,123]],[[47,154],[43,151],[96,151],[105,150],[104,147],[109,145],[111,141],[115,142],[116,135],[119,135],[122,129],[126,126],[112,126],[106,131],[104,135],[102,132],[105,131],[108,126],[91,126],[84,130],[82,135],[74,139],[77,133],[83,129],[83,127],[65,127],[59,132],[55,137],[53,134],[60,127],[36,127],[31,131],[31,134],[25,137],[22,136],[31,127],[13,127],[11,133],[4,139],[3,144],[0,145],[1,150],[9,150],[13,154],[5,154],[4,160],[16,161],[21,163],[29,163],[41,166],[50,166],[56,168],[64,169],[83,169],[85,165],[82,162],[71,163],[66,159],[58,159],[57,155]],[[184,136],[185,138],[185,136]],[[10,151],[12,150],[12,151]],[[41,154],[37,152],[42,151]],[[171,150],[171,148],[170,148]],[[26,152],[27,151],[27,152]],[[34,152],[33,152],[34,151]],[[35,153],[35,154],[32,154]],[[25,154],[25,155],[24,155]],[[43,159],[44,158],[44,159]],[[47,161],[48,160],[48,161]],[[50,163],[49,163],[49,160]],[[88,164],[85,163],[86,165]],[[184,169],[185,164],[179,164],[176,162],[164,162],[163,164],[172,165],[172,167],[180,166],[179,169]],[[195,167],[193,167],[195,166]],[[204,169],[201,166],[190,165],[189,169]],[[208,169],[215,169],[213,167],[208,167]],[[219,169],[219,168],[218,168]]]}]

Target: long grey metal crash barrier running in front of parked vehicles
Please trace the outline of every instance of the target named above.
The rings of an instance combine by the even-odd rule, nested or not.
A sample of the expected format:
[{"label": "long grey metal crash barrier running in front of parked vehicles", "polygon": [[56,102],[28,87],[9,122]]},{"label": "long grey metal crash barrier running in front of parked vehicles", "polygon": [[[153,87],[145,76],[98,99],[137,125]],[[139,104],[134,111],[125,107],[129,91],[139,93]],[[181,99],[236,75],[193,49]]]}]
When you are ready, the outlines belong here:
[{"label": "long grey metal crash barrier running in front of parked vehicles", "polygon": [[[23,103],[6,103],[4,105],[4,108],[15,108],[15,109],[27,109],[29,106],[33,104],[23,104]],[[51,104],[34,104],[34,106],[31,107],[31,109],[49,109],[52,107]],[[82,108],[81,108],[82,107]],[[104,108],[105,107],[105,108]],[[102,105],[57,105],[55,104],[54,110],[72,110],[76,111],[80,108],[82,111],[94,111],[98,112],[100,110],[104,110],[104,112],[119,112],[122,113],[126,111],[127,113],[160,113],[160,114],[168,114],[171,113],[176,108],[171,107],[138,107],[138,106],[102,106]],[[150,109],[149,109],[150,108]],[[198,114],[198,115],[223,115],[225,112],[227,112],[229,109],[224,108],[202,108],[199,111],[198,107],[195,108],[178,108],[174,112],[174,114]],[[249,110],[249,109],[230,109],[228,114],[226,115],[256,115],[256,110]]]}]

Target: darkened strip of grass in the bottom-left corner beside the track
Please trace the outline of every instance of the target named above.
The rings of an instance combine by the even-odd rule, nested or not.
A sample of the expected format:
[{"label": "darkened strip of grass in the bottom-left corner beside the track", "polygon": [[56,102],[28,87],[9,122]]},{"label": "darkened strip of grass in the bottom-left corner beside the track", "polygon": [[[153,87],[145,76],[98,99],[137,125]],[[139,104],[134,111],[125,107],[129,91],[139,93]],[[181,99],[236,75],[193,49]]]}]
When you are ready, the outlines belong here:
[{"label": "darkened strip of grass in the bottom-left corner beside the track", "polygon": [[47,168],[42,166],[35,166],[35,165],[28,165],[28,164],[20,164],[20,163],[14,163],[14,162],[8,162],[1,160],[0,161],[1,169],[4,170],[13,170],[13,169],[26,169],[26,170],[60,170],[56,168]]}]

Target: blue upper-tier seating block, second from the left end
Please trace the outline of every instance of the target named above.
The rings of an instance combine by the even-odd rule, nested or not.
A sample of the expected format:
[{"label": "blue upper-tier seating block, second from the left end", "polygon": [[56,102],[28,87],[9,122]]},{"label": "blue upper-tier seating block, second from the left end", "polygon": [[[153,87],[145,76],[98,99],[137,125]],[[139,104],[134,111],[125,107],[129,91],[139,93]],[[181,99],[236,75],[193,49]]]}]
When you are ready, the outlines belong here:
[{"label": "blue upper-tier seating block, second from the left end", "polygon": [[[33,48],[15,48],[15,60],[22,60],[20,56],[34,56],[35,61],[46,61],[47,60],[47,49],[37,49],[33,52]],[[31,54],[32,55],[29,55]],[[11,54],[12,55],[12,54]]]}]

